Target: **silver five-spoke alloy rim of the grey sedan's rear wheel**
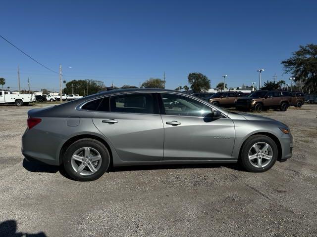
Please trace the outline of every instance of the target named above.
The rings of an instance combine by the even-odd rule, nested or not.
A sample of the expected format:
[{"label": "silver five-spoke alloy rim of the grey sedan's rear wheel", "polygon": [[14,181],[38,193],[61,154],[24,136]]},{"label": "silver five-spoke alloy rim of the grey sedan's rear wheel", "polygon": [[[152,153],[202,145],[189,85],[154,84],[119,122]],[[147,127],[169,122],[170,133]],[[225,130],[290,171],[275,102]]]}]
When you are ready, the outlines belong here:
[{"label": "silver five-spoke alloy rim of the grey sedan's rear wheel", "polygon": [[71,157],[72,168],[81,175],[96,173],[101,167],[101,162],[100,153],[91,147],[82,147],[74,152]]}]

